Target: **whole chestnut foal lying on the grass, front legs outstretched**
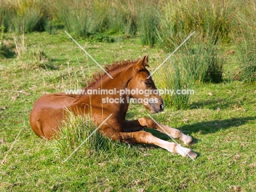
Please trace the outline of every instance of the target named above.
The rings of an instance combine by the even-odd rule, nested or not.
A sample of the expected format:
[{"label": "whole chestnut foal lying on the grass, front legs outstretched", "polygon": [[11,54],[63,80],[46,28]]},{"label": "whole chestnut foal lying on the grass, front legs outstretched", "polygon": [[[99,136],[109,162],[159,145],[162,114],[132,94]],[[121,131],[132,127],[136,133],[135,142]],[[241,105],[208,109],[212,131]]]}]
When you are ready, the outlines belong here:
[{"label": "whole chestnut foal lying on the grass, front legs outstretched", "polygon": [[[112,114],[99,129],[102,135],[113,140],[129,143],[155,144],[169,152],[196,158],[197,154],[191,149],[181,147],[173,142],[164,141],[153,136],[152,133],[144,131],[144,129],[153,128],[179,139],[185,144],[191,143],[192,138],[184,135],[181,131],[158,124],[154,120],[144,117],[138,120],[125,120],[130,98],[143,101],[141,103],[150,110],[150,113],[158,113],[164,110],[162,98],[158,94],[152,78],[148,78],[150,73],[146,68],[147,66],[148,56],[144,56],[142,60],[114,63],[106,68],[107,73],[113,79],[106,73],[99,73],[94,76],[94,81],[84,88],[85,92],[107,90],[105,92],[107,95],[67,95],[59,93],[47,94],[38,98],[30,115],[30,124],[33,131],[40,137],[53,139],[59,131],[63,120],[68,118],[67,109],[71,110],[75,115],[90,114],[97,125],[102,124]],[[139,94],[139,91],[135,91],[136,89],[147,91],[150,94]],[[109,94],[110,90],[112,90],[112,94]],[[113,93],[113,90],[117,91]],[[122,92],[124,94],[121,95],[121,90],[126,91],[125,93]],[[109,103],[106,101],[115,102]]]}]

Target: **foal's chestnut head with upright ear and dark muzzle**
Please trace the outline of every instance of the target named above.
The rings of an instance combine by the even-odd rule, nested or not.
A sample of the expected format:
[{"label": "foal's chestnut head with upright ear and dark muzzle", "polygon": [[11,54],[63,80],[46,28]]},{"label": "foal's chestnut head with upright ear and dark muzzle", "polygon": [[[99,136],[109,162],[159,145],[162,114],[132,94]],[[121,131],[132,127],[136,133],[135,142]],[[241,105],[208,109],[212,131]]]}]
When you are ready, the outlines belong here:
[{"label": "foal's chestnut head with upright ear and dark muzzle", "polygon": [[[130,97],[135,98],[135,102],[142,103],[150,113],[158,113],[164,110],[164,102],[146,68],[148,66],[148,56],[138,61],[133,66],[133,77],[131,78],[128,89],[131,91]],[[149,77],[149,78],[148,78]]]}]

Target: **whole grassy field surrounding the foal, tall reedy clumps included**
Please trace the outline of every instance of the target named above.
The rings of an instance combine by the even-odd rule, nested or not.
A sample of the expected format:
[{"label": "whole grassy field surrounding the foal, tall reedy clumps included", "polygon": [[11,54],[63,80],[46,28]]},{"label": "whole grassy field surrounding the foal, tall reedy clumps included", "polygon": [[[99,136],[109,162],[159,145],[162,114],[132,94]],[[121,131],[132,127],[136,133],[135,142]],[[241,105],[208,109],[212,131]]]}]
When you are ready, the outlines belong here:
[{"label": "whole grassy field surrounding the foal, tall reedy clumps included", "polygon": [[[256,191],[255,4],[0,0],[0,191]],[[158,89],[195,94],[163,95],[164,112],[152,114],[194,138],[195,161],[97,135],[106,148],[88,150],[90,138],[65,162],[74,146],[64,136],[33,133],[38,97],[84,88],[100,71],[65,30],[102,66],[149,55],[151,72],[195,31],[153,74]],[[141,117],[147,109],[131,104],[127,119]]]}]

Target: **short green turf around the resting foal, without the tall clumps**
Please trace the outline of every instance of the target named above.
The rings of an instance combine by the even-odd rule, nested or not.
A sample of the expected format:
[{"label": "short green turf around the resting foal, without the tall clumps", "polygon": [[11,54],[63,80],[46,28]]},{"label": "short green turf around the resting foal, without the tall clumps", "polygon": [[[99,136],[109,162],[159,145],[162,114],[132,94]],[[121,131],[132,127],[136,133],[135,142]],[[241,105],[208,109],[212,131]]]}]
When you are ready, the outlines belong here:
[{"label": "short green turf around the resting foal, without the tall clumps", "polygon": [[[12,34],[4,33],[3,38],[15,50]],[[21,46],[22,36],[17,38]],[[137,38],[113,38],[119,40],[76,40],[101,65],[149,54],[153,72],[168,55],[157,47],[141,46]],[[112,148],[102,150],[101,155],[81,158],[84,152],[78,150],[63,162],[68,154],[33,133],[28,122],[33,103],[46,92],[83,88],[100,68],[63,31],[25,34],[24,46],[19,56],[0,59],[1,191],[256,190],[256,89],[228,77],[228,71],[236,66],[236,55],[225,55],[222,83],[191,85],[195,95],[187,109],[170,106],[152,114],[160,123],[195,139],[190,146],[199,153],[195,162],[156,146],[118,142],[112,142]],[[153,74],[156,83],[161,77],[157,73]],[[132,105],[127,119],[147,117],[147,113],[142,106]],[[162,133],[149,131],[171,141]]]}]

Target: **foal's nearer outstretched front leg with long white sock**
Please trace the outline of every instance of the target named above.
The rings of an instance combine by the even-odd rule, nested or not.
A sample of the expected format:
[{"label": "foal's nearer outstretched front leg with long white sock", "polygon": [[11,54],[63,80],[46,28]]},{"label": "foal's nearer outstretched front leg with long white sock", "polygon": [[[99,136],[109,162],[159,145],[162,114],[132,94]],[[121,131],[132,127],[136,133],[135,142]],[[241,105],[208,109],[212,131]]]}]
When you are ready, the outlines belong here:
[{"label": "foal's nearer outstretched front leg with long white sock", "polygon": [[152,135],[152,133],[146,131],[136,131],[136,132],[117,132],[109,128],[106,132],[103,132],[105,136],[111,137],[113,140],[126,141],[129,143],[145,143],[145,144],[155,144],[161,148],[164,148],[172,153],[177,153],[182,156],[190,156],[191,158],[196,158],[197,154],[191,149],[181,147],[176,143],[164,141],[158,137]]}]

